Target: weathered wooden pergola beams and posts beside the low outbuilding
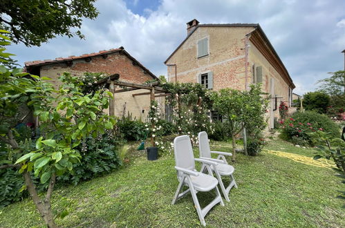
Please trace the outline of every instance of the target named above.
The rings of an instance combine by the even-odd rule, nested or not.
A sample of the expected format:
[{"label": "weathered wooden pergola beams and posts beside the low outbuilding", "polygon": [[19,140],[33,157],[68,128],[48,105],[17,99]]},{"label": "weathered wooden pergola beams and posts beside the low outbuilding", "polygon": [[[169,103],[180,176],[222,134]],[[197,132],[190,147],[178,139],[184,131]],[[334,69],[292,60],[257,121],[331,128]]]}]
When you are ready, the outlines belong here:
[{"label": "weathered wooden pergola beams and posts beside the low outbuilding", "polygon": [[[124,93],[128,91],[136,91],[138,89],[147,89],[149,92],[146,93],[134,93],[132,94],[133,97],[136,96],[142,96],[142,95],[150,95],[150,106],[151,102],[155,100],[155,97],[166,97],[170,95],[170,93],[167,93],[167,91],[164,88],[161,88],[158,86],[158,82],[153,82],[150,84],[135,84],[131,82],[122,82],[119,80],[120,75],[114,74],[110,75],[109,77],[106,77],[100,81],[97,82],[97,84],[107,84],[106,88],[109,88],[109,91],[113,94],[113,97],[115,97],[115,93]],[[115,86],[122,86],[124,88],[115,91]],[[109,115],[115,115],[115,99],[110,99],[109,101]],[[155,124],[152,123],[152,128],[155,127]],[[154,146],[154,139],[151,137],[151,144]]]}]

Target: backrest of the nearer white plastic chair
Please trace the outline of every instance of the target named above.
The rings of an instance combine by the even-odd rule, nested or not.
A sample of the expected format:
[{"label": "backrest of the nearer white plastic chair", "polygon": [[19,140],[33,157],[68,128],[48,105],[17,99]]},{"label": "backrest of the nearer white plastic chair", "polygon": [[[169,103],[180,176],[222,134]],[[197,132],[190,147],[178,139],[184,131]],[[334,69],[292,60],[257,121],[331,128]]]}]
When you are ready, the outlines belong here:
[{"label": "backrest of the nearer white plastic chair", "polygon": [[[174,154],[176,167],[195,169],[192,143],[188,135],[181,135],[174,139]],[[178,173],[178,176],[180,175]]]}]

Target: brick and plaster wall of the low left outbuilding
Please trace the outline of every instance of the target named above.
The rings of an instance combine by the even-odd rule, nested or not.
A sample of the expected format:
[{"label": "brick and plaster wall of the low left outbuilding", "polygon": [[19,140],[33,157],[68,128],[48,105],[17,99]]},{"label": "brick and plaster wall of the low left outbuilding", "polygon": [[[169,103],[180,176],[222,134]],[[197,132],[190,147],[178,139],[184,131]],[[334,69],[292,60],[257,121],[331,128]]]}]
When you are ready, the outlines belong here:
[{"label": "brick and plaster wall of the low left outbuilding", "polygon": [[[50,82],[59,86],[60,82],[58,78],[64,72],[71,73],[74,76],[81,76],[84,72],[118,73],[121,81],[137,84],[143,84],[147,80],[153,79],[151,75],[144,73],[144,70],[140,66],[134,66],[131,59],[120,53],[111,53],[105,59],[102,56],[92,57],[89,62],[86,62],[84,59],[73,60],[72,66],[67,66],[65,63],[47,64],[41,66],[40,75],[50,77],[52,79]],[[115,88],[115,90],[120,89],[121,88],[118,86]],[[121,117],[125,106],[126,115],[129,112],[132,113],[133,117],[136,117],[137,120],[144,121],[149,112],[150,96],[132,96],[133,93],[143,92],[149,91],[136,90],[125,93],[115,93],[115,115]],[[158,97],[156,100],[164,107],[164,97]],[[109,113],[109,110],[105,110],[104,112]]]}]

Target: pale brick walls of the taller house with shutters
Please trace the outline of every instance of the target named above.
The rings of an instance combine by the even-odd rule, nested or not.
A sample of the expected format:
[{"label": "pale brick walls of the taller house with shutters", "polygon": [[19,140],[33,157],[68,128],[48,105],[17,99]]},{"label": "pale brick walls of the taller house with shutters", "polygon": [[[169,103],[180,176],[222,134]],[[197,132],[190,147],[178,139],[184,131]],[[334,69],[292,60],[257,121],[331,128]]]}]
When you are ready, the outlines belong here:
[{"label": "pale brick walls of the taller house with shutters", "polygon": [[[245,35],[254,27],[199,27],[185,43],[167,61],[177,65],[178,82],[198,82],[198,75],[213,72],[213,89],[234,88],[245,90]],[[197,57],[198,40],[207,37],[209,55]],[[288,101],[288,84],[270,64],[268,59],[250,43],[248,50],[248,84],[252,83],[252,65],[262,66],[262,89],[270,93],[270,79],[274,79],[274,95]],[[167,66],[169,82],[175,82],[175,66]],[[279,105],[279,102],[278,102]],[[270,102],[268,117],[279,117],[279,111],[273,111],[274,102]],[[278,109],[277,109],[278,110]],[[270,126],[272,121],[270,121]]]}]

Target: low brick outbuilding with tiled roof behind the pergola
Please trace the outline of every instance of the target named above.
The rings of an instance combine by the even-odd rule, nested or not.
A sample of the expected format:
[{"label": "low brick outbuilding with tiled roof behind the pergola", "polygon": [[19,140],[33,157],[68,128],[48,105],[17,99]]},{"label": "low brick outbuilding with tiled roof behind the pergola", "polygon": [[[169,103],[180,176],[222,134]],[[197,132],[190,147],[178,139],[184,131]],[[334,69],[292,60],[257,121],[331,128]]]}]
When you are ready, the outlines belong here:
[{"label": "low brick outbuilding with tiled roof behind the pergola", "polygon": [[[102,50],[98,53],[56,58],[44,61],[28,61],[25,63],[25,70],[28,73],[38,76],[50,77],[54,85],[60,84],[58,78],[64,72],[74,76],[81,76],[85,72],[119,74],[122,82],[144,84],[148,80],[157,79],[147,68],[142,66],[138,60],[129,55],[124,48]],[[115,88],[120,90],[121,88]],[[131,113],[137,120],[145,120],[149,113],[149,95],[132,96],[133,93],[148,92],[144,89],[115,93],[115,116]],[[158,102],[164,104],[164,97],[157,97]],[[162,100],[162,101],[160,101]],[[109,111],[107,111],[109,112]]]}]

